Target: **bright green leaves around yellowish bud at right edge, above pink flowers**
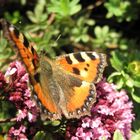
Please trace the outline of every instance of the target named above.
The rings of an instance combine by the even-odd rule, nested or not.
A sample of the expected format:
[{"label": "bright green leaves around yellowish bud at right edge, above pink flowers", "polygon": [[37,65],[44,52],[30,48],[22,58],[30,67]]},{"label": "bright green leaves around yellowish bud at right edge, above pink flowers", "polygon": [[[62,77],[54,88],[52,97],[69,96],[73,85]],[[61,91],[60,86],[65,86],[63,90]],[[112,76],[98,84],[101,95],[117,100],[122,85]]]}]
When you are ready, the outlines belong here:
[{"label": "bright green leaves around yellowish bud at right edge, above pink flowers", "polygon": [[139,53],[138,50],[132,50],[132,54],[129,56],[130,54],[128,52],[112,52],[110,62],[116,72],[113,72],[108,80],[110,82],[115,81],[118,89],[126,88],[131,93],[133,99],[140,103],[140,96],[136,90],[140,88]]}]

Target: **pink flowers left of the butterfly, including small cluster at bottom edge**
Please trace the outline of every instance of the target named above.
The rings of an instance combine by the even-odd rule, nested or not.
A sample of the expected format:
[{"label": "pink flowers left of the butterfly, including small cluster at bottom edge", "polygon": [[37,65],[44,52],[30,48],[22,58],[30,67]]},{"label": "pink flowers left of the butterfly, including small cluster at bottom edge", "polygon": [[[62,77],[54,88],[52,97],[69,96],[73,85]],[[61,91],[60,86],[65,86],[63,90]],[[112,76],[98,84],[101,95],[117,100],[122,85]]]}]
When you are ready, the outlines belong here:
[{"label": "pink flowers left of the butterfly, including small cluster at bottom edge", "polygon": [[8,139],[26,140],[26,126],[24,126],[23,120],[26,119],[29,123],[35,122],[39,110],[31,100],[31,91],[28,86],[29,78],[24,66],[18,61],[11,63],[5,75],[0,74],[0,86],[4,85],[5,81],[7,83],[5,93],[7,93],[8,100],[17,109],[17,125],[10,128]]}]

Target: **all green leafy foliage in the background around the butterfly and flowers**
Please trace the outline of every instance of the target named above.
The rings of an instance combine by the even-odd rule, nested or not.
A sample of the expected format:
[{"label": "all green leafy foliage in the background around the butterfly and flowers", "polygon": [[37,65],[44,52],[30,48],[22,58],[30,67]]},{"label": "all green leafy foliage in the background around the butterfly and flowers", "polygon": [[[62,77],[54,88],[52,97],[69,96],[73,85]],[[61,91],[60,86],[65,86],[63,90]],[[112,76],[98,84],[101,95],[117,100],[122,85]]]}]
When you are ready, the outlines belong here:
[{"label": "all green leafy foliage in the background around the butterfly and flowers", "polygon": [[[12,6],[11,6],[12,5]],[[136,120],[132,140],[140,135],[140,1],[108,0],[84,2],[80,0],[38,0],[36,2],[3,1],[0,16],[6,18],[26,35],[36,50],[45,50],[49,57],[75,51],[96,50],[108,57],[105,77],[110,83],[128,91],[134,103]],[[33,43],[34,42],[34,43]],[[0,32],[0,70],[15,60],[16,55]],[[12,118],[16,111],[3,101],[0,91],[0,118]],[[4,107],[3,107],[4,106]],[[6,107],[6,108],[5,108]],[[11,109],[12,108],[12,109]],[[8,113],[15,111],[14,114]],[[1,119],[0,119],[1,120]],[[0,125],[0,139],[11,123]],[[54,134],[64,135],[60,125],[49,125],[53,133],[38,131],[36,139],[53,139]],[[56,132],[56,133],[55,133]],[[122,139],[116,131],[114,140]],[[104,138],[103,138],[104,139]]]}]

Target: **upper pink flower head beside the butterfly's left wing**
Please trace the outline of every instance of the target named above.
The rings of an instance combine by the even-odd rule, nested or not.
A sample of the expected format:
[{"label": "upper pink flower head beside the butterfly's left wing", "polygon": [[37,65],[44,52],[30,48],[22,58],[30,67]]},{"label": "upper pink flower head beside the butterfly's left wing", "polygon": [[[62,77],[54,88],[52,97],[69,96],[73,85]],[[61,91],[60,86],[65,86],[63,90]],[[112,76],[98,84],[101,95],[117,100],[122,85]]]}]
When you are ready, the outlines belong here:
[{"label": "upper pink flower head beside the butterfly's left wing", "polygon": [[36,104],[31,100],[29,78],[24,66],[18,61],[11,63],[5,77],[10,87],[8,89],[9,100],[18,109],[17,121],[25,118],[28,118],[29,122],[36,121],[39,112]]}]

